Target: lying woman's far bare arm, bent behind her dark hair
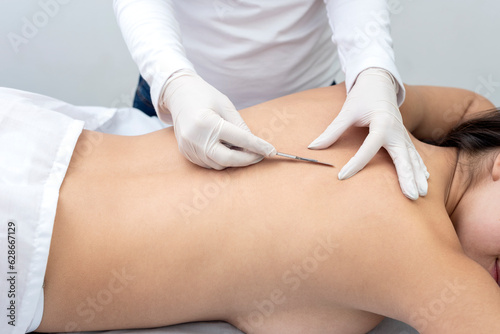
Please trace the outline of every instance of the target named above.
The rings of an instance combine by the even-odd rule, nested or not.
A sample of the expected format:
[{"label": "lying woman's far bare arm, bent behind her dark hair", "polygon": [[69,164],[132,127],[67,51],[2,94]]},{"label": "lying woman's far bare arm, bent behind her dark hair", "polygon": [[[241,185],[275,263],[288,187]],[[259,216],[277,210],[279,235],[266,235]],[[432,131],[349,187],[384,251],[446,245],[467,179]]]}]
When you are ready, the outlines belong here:
[{"label": "lying woman's far bare arm, bent behind her dark hair", "polygon": [[494,108],[472,91],[434,86],[406,86],[401,114],[407,129],[420,140],[436,140],[476,112]]}]

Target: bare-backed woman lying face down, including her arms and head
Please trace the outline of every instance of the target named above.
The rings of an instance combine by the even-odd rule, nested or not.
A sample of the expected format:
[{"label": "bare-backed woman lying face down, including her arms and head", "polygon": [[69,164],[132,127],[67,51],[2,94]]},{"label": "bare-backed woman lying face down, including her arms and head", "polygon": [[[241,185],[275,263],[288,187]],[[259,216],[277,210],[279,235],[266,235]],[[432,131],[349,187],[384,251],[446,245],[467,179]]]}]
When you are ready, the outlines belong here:
[{"label": "bare-backed woman lying face down, including her arms and head", "polygon": [[[366,129],[307,150],[344,99],[339,85],[241,112],[278,151],[336,168],[273,158],[207,170],[180,155],[172,129],[84,131],[60,190],[37,331],[224,320],[246,333],[365,333],[388,316],[422,333],[500,332],[498,112],[472,121],[476,135],[455,131],[445,144],[458,148],[412,138],[431,177],[410,201],[383,150],[336,178]],[[401,111],[432,140],[491,107],[463,90],[408,87]]]}]

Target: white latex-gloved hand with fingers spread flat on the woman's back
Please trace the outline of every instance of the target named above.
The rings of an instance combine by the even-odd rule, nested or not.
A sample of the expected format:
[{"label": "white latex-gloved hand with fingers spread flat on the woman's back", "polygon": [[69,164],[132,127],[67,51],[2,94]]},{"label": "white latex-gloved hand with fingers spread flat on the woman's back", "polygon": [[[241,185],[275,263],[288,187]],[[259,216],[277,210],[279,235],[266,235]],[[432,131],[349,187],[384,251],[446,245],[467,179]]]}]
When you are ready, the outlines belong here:
[{"label": "white latex-gloved hand with fingers spread flat on the woman's back", "polygon": [[339,115],[309,148],[329,147],[352,125],[369,126],[370,133],[354,157],[340,170],[339,179],[355,175],[384,147],[396,166],[403,194],[416,200],[419,195],[427,194],[429,173],[403,125],[397,89],[392,75],[383,69],[369,68],[361,72]]}]

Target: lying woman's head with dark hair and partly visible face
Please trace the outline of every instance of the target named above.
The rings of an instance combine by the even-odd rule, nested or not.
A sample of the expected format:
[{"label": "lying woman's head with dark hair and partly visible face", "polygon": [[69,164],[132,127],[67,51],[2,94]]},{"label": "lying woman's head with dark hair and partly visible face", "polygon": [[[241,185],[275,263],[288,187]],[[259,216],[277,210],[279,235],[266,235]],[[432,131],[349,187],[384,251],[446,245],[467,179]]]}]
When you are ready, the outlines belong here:
[{"label": "lying woman's head with dark hair and partly visible face", "polygon": [[462,191],[450,192],[457,205],[450,212],[464,252],[499,279],[500,111],[477,115],[457,127],[441,145],[458,147],[457,183]]}]

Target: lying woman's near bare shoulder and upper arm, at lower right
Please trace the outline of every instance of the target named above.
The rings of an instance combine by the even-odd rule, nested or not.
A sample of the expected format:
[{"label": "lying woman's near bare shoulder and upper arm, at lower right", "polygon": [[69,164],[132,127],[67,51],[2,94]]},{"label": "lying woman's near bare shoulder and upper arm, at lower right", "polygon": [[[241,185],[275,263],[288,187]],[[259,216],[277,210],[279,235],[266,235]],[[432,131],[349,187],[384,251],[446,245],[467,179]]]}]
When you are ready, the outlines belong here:
[{"label": "lying woman's near bare shoulder and upper arm, at lower right", "polygon": [[[396,238],[369,226],[371,236],[356,253],[363,265],[352,266],[362,268],[350,282],[356,288],[346,288],[352,306],[403,321],[422,334],[500,333],[500,289],[446,232],[451,224],[441,225],[443,217],[436,216],[434,223],[410,219],[398,221],[400,226],[397,218],[377,221]],[[365,279],[356,285],[356,277]]]}]

